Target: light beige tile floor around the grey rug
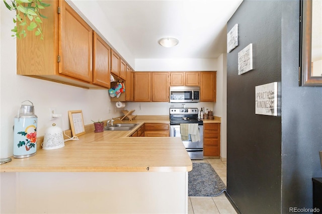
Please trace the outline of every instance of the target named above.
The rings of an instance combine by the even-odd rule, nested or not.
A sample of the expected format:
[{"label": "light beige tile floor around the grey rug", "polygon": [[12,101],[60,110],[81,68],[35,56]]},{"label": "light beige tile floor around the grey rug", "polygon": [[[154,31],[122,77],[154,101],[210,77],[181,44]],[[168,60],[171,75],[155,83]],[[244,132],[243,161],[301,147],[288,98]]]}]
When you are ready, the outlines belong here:
[{"label": "light beige tile floor around the grey rug", "polygon": [[[192,162],[210,163],[221,180],[227,185],[227,163],[220,159],[203,159],[192,160]],[[237,213],[226,198],[225,193],[221,193],[216,197],[190,197],[188,198],[188,213],[220,213],[234,214]]]}]

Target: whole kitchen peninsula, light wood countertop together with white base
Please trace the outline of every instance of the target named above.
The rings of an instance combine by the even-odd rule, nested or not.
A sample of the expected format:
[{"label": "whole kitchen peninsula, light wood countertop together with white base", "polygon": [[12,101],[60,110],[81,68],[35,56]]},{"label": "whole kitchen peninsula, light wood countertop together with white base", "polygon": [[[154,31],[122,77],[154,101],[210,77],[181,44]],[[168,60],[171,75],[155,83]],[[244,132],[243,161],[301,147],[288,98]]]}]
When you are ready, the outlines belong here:
[{"label": "whole kitchen peninsula, light wood countertop together with white base", "polygon": [[2,195],[12,201],[1,205],[15,213],[188,212],[192,162],[181,139],[128,137],[144,120],[132,123],[0,165]]}]

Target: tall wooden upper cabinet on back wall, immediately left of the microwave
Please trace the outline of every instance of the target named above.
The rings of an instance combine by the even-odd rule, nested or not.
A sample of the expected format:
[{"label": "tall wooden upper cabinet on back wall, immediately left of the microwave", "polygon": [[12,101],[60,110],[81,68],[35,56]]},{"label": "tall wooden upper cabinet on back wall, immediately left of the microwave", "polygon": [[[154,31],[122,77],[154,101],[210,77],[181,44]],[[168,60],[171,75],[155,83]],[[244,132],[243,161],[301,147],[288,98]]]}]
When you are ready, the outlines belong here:
[{"label": "tall wooden upper cabinet on back wall, immediately left of the microwave", "polygon": [[152,72],[152,101],[169,102],[169,73]]}]

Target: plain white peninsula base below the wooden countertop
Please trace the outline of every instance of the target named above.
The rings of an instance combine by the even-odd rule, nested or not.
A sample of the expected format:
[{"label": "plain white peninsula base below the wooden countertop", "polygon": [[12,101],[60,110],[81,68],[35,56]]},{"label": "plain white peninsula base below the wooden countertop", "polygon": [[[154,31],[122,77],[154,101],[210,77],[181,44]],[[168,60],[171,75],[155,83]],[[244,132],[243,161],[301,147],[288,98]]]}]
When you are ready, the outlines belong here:
[{"label": "plain white peninsula base below the wooden countertop", "polygon": [[187,213],[188,172],[3,172],[1,213]]}]

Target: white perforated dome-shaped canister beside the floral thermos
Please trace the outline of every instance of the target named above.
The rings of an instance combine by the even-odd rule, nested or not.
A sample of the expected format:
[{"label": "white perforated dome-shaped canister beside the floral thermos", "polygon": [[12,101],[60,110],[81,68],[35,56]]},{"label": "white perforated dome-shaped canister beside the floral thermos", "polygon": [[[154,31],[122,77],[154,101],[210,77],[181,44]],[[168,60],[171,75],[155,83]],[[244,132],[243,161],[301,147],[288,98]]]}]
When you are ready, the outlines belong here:
[{"label": "white perforated dome-shaped canister beside the floral thermos", "polygon": [[52,124],[46,130],[44,136],[44,142],[41,144],[42,149],[59,149],[65,146],[64,137],[62,136],[62,130],[56,126],[56,124]]}]

